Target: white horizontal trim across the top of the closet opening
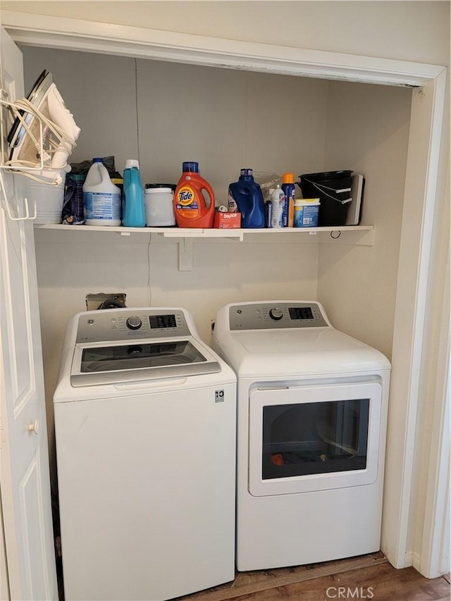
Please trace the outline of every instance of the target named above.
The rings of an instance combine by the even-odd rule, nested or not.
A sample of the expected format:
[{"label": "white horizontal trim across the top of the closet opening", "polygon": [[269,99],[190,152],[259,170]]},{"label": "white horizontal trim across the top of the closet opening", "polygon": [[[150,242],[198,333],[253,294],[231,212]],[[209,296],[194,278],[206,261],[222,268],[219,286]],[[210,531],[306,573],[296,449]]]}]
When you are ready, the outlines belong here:
[{"label": "white horizontal trim across the top of the closet opening", "polygon": [[2,11],[19,44],[283,75],[421,86],[443,67],[81,19]]}]

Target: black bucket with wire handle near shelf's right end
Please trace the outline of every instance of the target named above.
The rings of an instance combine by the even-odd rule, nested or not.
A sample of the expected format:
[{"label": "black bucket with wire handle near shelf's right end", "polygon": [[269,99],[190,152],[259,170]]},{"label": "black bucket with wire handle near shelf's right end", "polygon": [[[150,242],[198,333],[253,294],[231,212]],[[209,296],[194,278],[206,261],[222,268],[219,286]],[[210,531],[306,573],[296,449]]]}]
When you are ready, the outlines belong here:
[{"label": "black bucket with wire handle near shelf's right end", "polygon": [[350,208],[352,171],[326,171],[299,175],[304,198],[319,198],[318,225],[345,225]]}]

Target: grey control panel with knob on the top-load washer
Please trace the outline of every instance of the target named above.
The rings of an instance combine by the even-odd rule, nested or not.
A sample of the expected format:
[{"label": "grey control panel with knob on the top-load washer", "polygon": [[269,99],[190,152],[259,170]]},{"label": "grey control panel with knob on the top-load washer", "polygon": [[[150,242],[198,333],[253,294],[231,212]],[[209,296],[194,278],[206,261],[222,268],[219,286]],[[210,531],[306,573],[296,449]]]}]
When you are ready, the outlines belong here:
[{"label": "grey control panel with knob on the top-load washer", "polygon": [[[170,312],[169,312],[170,311]],[[106,309],[87,311],[78,318],[77,342],[105,342],[190,336],[185,314],[180,309],[168,313],[152,309]]]}]

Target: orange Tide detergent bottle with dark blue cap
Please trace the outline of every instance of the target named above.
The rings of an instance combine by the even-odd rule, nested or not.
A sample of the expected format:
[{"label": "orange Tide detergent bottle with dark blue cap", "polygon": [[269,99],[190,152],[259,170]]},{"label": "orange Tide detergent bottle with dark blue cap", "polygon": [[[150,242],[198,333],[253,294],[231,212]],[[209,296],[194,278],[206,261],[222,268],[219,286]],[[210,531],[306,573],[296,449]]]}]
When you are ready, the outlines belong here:
[{"label": "orange Tide detergent bottle with dark blue cap", "polygon": [[[182,163],[182,177],[174,194],[175,221],[179,228],[212,228],[214,192],[209,182],[201,178],[199,163]],[[204,192],[209,197],[206,204]]]}]

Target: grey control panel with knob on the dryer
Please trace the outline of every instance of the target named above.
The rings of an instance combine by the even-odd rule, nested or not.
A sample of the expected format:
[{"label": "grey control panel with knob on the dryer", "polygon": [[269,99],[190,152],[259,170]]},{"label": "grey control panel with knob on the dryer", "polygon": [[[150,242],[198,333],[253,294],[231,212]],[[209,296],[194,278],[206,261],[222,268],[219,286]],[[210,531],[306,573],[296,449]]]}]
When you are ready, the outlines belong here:
[{"label": "grey control panel with knob on the dryer", "polygon": [[230,330],[328,328],[315,302],[234,304],[229,307]]}]

